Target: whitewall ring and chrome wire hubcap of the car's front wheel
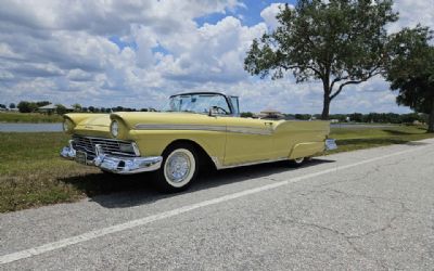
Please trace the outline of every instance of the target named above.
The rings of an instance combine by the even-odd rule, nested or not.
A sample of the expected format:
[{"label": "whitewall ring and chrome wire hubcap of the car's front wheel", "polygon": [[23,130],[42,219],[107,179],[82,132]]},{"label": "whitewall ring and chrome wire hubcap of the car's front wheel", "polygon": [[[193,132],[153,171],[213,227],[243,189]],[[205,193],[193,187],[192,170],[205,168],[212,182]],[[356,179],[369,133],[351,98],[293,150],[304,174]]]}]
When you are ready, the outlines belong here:
[{"label": "whitewall ring and chrome wire hubcap of the car's front wheel", "polygon": [[173,151],[164,164],[164,177],[174,188],[182,188],[193,178],[195,171],[194,155],[187,149]]}]

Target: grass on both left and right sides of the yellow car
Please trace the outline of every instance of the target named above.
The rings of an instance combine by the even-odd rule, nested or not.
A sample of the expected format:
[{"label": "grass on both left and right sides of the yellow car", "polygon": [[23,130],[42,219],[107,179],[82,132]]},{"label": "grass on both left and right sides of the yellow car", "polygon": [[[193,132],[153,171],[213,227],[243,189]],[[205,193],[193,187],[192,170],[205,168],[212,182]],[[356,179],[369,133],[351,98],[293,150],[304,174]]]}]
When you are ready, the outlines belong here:
[{"label": "grass on both left and right sides of the yellow car", "polygon": [[[418,127],[332,129],[339,150],[347,152],[432,138]],[[148,176],[102,173],[59,157],[68,137],[59,132],[0,132],[0,212],[54,203],[74,202],[86,196],[136,190]]]}]

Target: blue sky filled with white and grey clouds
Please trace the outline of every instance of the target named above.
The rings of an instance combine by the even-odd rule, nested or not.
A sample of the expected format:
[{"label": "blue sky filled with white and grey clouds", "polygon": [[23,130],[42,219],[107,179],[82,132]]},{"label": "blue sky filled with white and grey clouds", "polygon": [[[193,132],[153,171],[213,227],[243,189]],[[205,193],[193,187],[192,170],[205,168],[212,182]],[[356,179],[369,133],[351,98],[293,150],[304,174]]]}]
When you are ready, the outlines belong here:
[{"label": "blue sky filled with white and grey clouds", "polygon": [[[259,79],[243,69],[282,2],[261,0],[0,0],[0,103],[162,107],[170,94],[220,91],[241,111],[316,114],[318,81]],[[396,0],[393,33],[434,29],[434,0]],[[345,89],[331,113],[410,112],[381,77]]]}]

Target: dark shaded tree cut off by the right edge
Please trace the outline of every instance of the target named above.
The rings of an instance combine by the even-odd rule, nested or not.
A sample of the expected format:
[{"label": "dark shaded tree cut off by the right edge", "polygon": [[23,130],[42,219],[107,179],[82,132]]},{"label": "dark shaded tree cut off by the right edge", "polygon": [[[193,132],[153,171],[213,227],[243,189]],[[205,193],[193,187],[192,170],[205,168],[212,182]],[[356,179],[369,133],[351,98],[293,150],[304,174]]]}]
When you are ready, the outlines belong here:
[{"label": "dark shaded tree cut off by the right edge", "polygon": [[429,114],[429,132],[434,132],[434,47],[432,31],[418,25],[393,35],[388,44],[386,80],[396,102],[419,113]]}]

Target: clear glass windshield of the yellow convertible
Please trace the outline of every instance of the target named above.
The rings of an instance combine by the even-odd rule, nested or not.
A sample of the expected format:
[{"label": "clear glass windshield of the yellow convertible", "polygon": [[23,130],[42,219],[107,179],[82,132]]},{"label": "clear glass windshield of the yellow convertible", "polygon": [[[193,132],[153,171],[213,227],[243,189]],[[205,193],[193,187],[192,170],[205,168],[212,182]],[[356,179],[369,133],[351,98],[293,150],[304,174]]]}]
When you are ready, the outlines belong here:
[{"label": "clear glass windshield of the yellow convertible", "polygon": [[209,108],[212,107],[217,114],[230,114],[230,108],[226,98],[213,93],[180,94],[171,96],[168,106],[166,106],[166,112],[208,114]]}]

